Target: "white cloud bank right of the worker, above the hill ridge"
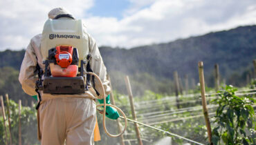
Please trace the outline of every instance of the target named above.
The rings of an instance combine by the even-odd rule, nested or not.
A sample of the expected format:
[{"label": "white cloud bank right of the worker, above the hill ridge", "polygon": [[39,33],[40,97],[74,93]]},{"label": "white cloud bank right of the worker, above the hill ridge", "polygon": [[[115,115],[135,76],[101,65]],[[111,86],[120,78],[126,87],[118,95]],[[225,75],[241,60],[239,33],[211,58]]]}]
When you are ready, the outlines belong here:
[{"label": "white cloud bank right of the worker, above the hill ridge", "polygon": [[255,12],[254,1],[158,0],[120,20],[84,21],[100,45],[131,48],[255,24]]}]

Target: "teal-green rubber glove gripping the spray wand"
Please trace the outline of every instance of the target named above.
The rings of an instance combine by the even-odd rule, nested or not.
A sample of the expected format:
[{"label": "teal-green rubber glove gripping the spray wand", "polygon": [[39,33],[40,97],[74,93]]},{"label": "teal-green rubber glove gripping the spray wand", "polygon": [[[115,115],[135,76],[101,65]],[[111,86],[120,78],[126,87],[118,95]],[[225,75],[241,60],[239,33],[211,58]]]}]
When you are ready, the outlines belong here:
[{"label": "teal-green rubber glove gripping the spray wand", "polygon": [[[104,99],[98,99],[100,104],[104,104]],[[106,104],[110,104],[109,95],[106,97]],[[102,106],[104,107],[104,106]],[[116,108],[112,108],[111,106],[106,106],[106,116],[110,119],[118,119],[120,116]]]}]

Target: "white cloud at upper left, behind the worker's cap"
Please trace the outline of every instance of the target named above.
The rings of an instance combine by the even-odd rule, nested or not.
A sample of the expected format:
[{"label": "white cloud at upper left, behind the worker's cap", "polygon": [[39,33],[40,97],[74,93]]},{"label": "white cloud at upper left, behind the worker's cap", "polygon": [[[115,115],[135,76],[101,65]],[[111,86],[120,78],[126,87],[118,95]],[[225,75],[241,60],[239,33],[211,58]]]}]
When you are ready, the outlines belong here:
[{"label": "white cloud at upper left, behind the worker's cap", "polygon": [[25,48],[30,38],[42,32],[48,12],[56,7],[67,8],[77,17],[93,6],[93,0],[68,1],[0,1],[0,50]]}]

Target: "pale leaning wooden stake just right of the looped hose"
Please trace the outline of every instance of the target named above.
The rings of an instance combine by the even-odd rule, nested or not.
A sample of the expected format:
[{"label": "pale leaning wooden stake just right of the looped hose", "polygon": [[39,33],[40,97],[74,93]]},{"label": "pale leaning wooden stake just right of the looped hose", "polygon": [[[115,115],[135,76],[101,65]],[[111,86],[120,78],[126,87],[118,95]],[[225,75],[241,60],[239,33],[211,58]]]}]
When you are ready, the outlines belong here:
[{"label": "pale leaning wooden stake just right of the looped hose", "polygon": [[[125,84],[126,84],[127,92],[129,94],[129,101],[130,101],[130,105],[131,105],[131,115],[132,115],[133,119],[135,121],[137,121],[137,117],[136,117],[136,113],[135,113],[135,109],[134,109],[134,99],[133,99],[133,95],[132,95],[132,92],[131,92],[131,84],[130,84],[128,76],[125,77]],[[134,128],[135,128],[135,131],[136,131],[138,144],[142,145],[143,142],[140,139],[140,131],[138,130],[138,124],[134,123]]]}]

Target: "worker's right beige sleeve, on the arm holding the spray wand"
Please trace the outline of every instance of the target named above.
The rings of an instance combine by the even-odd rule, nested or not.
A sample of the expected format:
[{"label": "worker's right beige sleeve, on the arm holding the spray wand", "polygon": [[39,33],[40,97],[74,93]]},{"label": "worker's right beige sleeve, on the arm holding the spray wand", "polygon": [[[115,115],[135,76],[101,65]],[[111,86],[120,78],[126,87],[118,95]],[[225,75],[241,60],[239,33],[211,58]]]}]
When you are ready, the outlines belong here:
[{"label": "worker's right beige sleeve, on the arm holding the spray wand", "polygon": [[100,50],[98,46],[95,43],[95,40],[89,36],[89,49],[91,54],[91,69],[93,72],[95,72],[96,75],[98,75],[102,81],[102,84],[104,86],[105,95],[102,94],[102,91],[100,89],[100,83],[97,79],[95,80],[95,90],[100,93],[98,96],[98,99],[103,99],[104,97],[107,97],[107,95],[110,94],[111,88],[109,86],[109,81],[107,80],[107,68],[104,66],[102,57],[100,55]]}]

